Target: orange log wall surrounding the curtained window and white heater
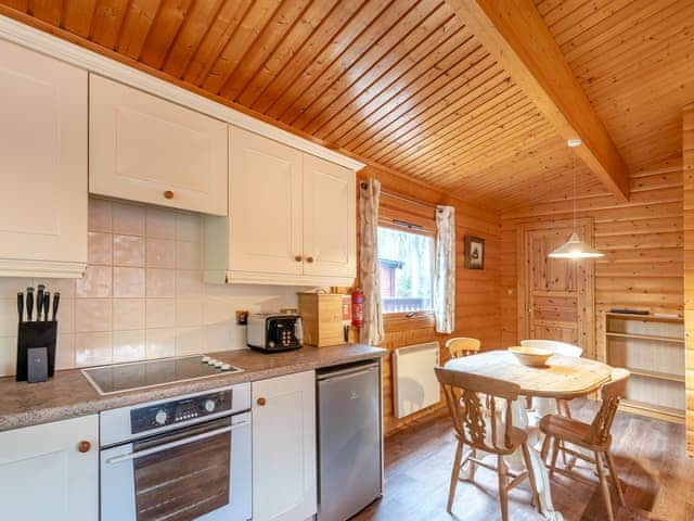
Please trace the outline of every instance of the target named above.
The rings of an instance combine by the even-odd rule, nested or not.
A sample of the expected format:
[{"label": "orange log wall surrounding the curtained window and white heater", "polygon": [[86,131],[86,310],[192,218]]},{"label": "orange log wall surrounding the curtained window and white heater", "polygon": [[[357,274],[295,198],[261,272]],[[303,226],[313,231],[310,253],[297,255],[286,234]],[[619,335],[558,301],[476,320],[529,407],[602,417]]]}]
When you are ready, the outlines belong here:
[{"label": "orange log wall surrounding the curtained window and white heater", "polygon": [[[407,318],[404,316],[386,317],[386,336],[383,347],[394,351],[406,345],[438,341],[441,345],[441,360],[448,358],[444,347],[451,336],[474,336],[481,340],[484,350],[493,350],[501,344],[501,316],[499,307],[499,277],[501,274],[501,237],[499,215],[484,208],[477,208],[453,198],[446,192],[430,186],[399,176],[395,173],[367,167],[359,173],[360,179],[374,177],[382,183],[382,190],[397,193],[401,196],[421,201],[430,205],[450,204],[455,207],[455,331],[450,335],[437,334],[434,330],[434,319],[429,316]],[[388,204],[397,201],[387,198]],[[401,206],[414,219],[430,215],[434,208],[425,205],[401,202]],[[463,267],[463,238],[473,234],[486,240],[485,269],[474,270]],[[425,416],[440,414],[444,403],[416,412],[403,419],[393,416],[393,380],[391,358],[388,356],[383,364],[384,385],[384,422],[386,434],[391,434]]]}]

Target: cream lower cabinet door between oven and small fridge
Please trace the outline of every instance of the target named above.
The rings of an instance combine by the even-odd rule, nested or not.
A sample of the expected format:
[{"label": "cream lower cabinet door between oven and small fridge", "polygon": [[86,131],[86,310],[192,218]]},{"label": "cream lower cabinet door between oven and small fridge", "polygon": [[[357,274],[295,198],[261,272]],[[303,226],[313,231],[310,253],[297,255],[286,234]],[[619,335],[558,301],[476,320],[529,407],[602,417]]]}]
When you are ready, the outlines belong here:
[{"label": "cream lower cabinet door between oven and small fridge", "polygon": [[253,519],[316,513],[316,376],[253,383]]}]

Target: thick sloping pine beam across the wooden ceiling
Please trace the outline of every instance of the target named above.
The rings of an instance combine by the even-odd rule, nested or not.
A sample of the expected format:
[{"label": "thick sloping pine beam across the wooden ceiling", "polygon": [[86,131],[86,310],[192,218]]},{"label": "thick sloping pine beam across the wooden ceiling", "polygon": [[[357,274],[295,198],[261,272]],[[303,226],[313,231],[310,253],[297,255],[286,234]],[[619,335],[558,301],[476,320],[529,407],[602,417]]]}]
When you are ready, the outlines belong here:
[{"label": "thick sloping pine beam across the wooden ceiling", "polygon": [[446,0],[578,156],[619,201],[627,166],[531,0]]}]

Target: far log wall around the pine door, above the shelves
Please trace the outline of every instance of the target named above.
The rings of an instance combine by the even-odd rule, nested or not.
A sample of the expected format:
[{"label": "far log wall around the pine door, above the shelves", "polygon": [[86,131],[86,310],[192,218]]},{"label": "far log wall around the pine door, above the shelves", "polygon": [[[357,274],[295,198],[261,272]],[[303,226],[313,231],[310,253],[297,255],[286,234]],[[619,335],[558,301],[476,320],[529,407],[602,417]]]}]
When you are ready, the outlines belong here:
[{"label": "far log wall around the pine door, above the shelves", "polygon": [[[658,163],[630,178],[631,200],[579,192],[578,217],[594,220],[594,244],[605,254],[595,263],[596,353],[604,359],[604,312],[641,307],[682,313],[681,160]],[[573,202],[561,199],[520,206],[501,216],[502,343],[518,340],[517,230],[524,224],[570,218]]]}]

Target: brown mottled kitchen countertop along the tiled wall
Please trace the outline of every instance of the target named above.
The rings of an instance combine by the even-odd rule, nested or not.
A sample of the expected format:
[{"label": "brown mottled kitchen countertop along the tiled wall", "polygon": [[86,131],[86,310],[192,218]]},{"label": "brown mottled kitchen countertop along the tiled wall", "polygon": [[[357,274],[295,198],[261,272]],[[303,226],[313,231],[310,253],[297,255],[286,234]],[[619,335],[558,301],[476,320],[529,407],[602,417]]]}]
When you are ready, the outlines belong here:
[{"label": "brown mottled kitchen countertop along the tiled wall", "polygon": [[15,382],[0,378],[0,431],[93,415],[102,410],[207,391],[234,383],[265,380],[321,367],[378,358],[386,350],[363,344],[265,354],[247,348],[206,353],[242,372],[101,396],[79,369],[56,371],[48,382]]}]

